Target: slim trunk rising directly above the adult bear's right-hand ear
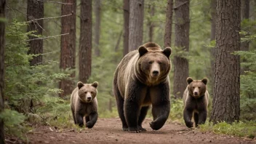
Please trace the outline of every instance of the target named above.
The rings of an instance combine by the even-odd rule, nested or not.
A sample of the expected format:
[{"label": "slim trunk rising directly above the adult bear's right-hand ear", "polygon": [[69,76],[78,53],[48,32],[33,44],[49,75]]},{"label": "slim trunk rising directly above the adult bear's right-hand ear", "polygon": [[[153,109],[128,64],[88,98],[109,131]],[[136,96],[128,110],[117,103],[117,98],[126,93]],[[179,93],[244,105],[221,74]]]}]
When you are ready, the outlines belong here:
[{"label": "slim trunk rising directly above the adult bear's right-hand ear", "polygon": [[168,0],[165,32],[164,32],[164,47],[171,47],[171,43],[172,43],[172,7],[173,7],[173,0]]}]

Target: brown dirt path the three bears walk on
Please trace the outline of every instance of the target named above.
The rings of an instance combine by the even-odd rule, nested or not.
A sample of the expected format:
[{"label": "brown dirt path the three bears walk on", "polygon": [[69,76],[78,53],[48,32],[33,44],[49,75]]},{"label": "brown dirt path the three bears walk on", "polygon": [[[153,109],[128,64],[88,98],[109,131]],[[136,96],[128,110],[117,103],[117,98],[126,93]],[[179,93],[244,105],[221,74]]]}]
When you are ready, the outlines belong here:
[{"label": "brown dirt path the three bears walk on", "polygon": [[[129,133],[121,130],[121,121],[98,119],[92,129],[56,129],[56,127],[39,126],[27,134],[28,143],[256,143],[256,140],[230,135],[216,135],[211,132],[200,132],[199,129],[188,129],[183,124],[167,121],[164,127],[152,131],[151,119],[143,121],[146,132]],[[17,142],[17,141],[16,141]],[[11,141],[7,141],[11,143]],[[12,142],[14,143],[14,142]],[[19,143],[19,142],[17,142]]]}]

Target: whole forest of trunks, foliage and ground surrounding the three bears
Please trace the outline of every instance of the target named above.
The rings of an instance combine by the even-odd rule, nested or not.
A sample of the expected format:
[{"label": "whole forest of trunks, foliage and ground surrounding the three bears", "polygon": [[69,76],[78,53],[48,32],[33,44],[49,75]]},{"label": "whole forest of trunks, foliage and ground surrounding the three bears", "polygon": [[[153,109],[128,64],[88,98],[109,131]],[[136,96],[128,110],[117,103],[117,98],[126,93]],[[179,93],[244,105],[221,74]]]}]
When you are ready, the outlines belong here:
[{"label": "whole forest of trunks, foliage and ground surrounding the three bears", "polygon": [[[133,140],[169,134],[180,138],[148,140],[192,143],[185,135],[200,135],[204,143],[253,143],[255,33],[255,0],[0,0],[0,143],[82,143],[77,137],[97,129],[101,137],[85,140],[136,142],[125,141],[136,134],[121,131],[113,79],[122,58],[147,42],[172,48],[170,112],[164,127],[147,136],[150,108],[143,123],[148,131]],[[207,78],[209,92],[207,121],[189,129],[183,119],[188,77]],[[98,82],[92,129],[73,124],[71,93],[79,81]],[[40,133],[46,129],[55,134]],[[76,138],[61,141],[60,135]]]}]

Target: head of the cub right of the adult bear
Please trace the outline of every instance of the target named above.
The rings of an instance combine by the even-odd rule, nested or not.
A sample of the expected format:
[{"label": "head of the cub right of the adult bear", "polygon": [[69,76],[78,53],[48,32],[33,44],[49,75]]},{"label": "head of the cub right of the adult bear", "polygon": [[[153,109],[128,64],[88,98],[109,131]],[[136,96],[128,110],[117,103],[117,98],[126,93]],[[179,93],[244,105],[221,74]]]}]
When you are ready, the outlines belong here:
[{"label": "head of the cub right of the adult bear", "polygon": [[202,80],[193,80],[191,77],[188,77],[188,92],[189,95],[195,98],[199,98],[204,95],[207,91],[207,79]]}]

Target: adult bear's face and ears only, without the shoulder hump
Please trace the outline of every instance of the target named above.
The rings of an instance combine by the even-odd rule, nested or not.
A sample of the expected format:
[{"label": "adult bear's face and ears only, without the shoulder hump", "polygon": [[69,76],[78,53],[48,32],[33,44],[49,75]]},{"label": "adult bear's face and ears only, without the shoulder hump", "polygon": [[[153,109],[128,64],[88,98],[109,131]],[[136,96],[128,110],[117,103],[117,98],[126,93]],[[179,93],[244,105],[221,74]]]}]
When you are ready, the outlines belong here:
[{"label": "adult bear's face and ears only, without the shoulder hump", "polygon": [[145,47],[139,47],[140,70],[151,79],[166,75],[170,69],[169,55],[171,55],[171,51],[170,47],[157,52],[151,52]]}]

